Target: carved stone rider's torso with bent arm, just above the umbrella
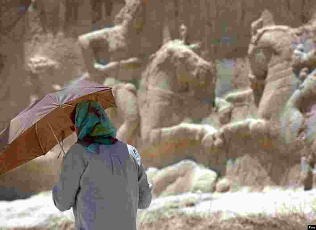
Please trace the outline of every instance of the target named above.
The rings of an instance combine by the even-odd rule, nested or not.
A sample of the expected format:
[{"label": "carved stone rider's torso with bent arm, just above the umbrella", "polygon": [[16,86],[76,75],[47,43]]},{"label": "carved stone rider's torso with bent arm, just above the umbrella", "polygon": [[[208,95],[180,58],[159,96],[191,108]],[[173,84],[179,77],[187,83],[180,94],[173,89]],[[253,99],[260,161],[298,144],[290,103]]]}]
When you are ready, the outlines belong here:
[{"label": "carved stone rider's torso with bent arm, just above the umbrella", "polygon": [[[122,13],[116,16],[114,27],[79,36],[82,55],[92,80],[102,83],[106,77],[115,77],[110,75],[111,72],[118,71],[120,68],[136,68],[143,64],[142,58],[130,56],[133,47],[134,49],[138,47],[137,33],[142,29],[142,8],[143,4],[135,4],[128,13],[123,8]],[[108,64],[96,63],[97,49],[105,50],[104,55],[109,61]]]}]

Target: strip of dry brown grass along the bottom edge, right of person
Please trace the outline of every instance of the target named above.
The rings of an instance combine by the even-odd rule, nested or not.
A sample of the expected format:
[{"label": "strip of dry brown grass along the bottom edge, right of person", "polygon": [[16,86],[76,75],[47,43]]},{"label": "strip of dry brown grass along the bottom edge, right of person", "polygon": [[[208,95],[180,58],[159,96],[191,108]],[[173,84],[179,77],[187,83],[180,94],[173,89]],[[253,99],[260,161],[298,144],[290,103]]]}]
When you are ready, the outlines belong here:
[{"label": "strip of dry brown grass along the bottom edge, right of person", "polygon": [[305,230],[307,224],[316,224],[316,219],[309,221],[306,215],[291,213],[287,215],[268,216],[265,214],[237,216],[227,220],[220,220],[223,213],[216,213],[214,217],[179,216],[170,218],[159,217],[154,222],[140,223],[138,229],[181,229],[181,230],[230,230],[230,229],[253,229],[253,230]]}]

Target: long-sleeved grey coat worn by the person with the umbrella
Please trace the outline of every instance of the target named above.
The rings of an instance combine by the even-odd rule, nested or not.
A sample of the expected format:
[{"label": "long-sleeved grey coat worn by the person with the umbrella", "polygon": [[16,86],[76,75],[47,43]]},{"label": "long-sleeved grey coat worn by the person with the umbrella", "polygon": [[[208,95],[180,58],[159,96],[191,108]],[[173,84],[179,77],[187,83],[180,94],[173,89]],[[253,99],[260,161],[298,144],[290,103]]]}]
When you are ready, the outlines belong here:
[{"label": "long-sleeved grey coat worn by the person with the umbrella", "polygon": [[118,141],[100,155],[74,144],[52,189],[60,211],[73,208],[76,230],[136,230],[137,209],[152,200],[152,185],[136,148]]}]

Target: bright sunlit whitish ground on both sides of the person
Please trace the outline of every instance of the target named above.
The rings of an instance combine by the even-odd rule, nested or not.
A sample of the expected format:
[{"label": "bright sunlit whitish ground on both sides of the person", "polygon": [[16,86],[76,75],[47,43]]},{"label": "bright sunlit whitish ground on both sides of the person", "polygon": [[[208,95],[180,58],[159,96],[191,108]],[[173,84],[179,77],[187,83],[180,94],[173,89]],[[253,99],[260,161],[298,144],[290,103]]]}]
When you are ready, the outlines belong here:
[{"label": "bright sunlit whitish ground on both sides of the person", "polygon": [[[302,211],[310,216],[316,208],[316,189],[308,192],[298,189],[282,191],[272,189],[269,192],[228,192],[220,193],[185,193],[179,196],[156,198],[150,207],[138,209],[138,221],[147,219],[150,213],[169,207],[186,214],[205,215],[216,211],[226,212],[227,218],[235,214],[247,215],[265,212],[266,214],[284,213],[286,211]],[[195,206],[185,207],[180,204],[194,201]],[[179,206],[179,208],[177,208]],[[176,208],[175,208],[176,207]],[[167,208],[168,209],[168,208]],[[60,212],[53,203],[52,192],[42,192],[25,200],[0,201],[1,227],[51,227],[63,221],[74,221],[72,209]]]}]

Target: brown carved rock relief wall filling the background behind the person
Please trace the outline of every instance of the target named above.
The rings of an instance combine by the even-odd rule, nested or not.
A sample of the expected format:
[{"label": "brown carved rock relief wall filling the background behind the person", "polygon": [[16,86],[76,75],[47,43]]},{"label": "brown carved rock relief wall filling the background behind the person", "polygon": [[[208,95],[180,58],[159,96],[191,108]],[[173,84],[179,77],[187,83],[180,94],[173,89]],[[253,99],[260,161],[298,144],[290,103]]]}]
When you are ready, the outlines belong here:
[{"label": "brown carved rock relief wall filling the background behind the person", "polygon": [[[99,83],[109,77],[121,80],[105,82],[113,87],[118,104],[108,114],[119,138],[140,150],[146,167],[167,169],[191,158],[224,172],[231,158],[236,161],[226,176],[232,183],[289,185],[297,179],[303,155],[296,147],[297,135],[314,140],[315,52],[309,48],[313,39],[305,39],[302,47],[292,42],[304,40],[304,28],[316,34],[315,6],[311,0],[213,0],[194,5],[118,0],[98,9],[90,1],[79,6],[75,1],[36,0],[15,27],[0,36],[6,44],[0,46],[0,128],[27,106],[30,96],[42,97],[57,89],[52,85],[63,86],[88,71],[86,75]],[[9,18],[5,24],[10,24]],[[94,26],[111,28],[91,32]],[[222,58],[237,60],[229,80],[219,80],[211,62]],[[306,67],[305,75],[298,76]],[[285,125],[288,121],[290,126]],[[20,194],[40,192],[58,179],[58,170],[56,162],[35,159],[2,177],[2,187]],[[185,175],[192,177],[193,171]],[[36,182],[38,172],[45,176]],[[216,188],[214,172],[198,172],[212,175],[201,182],[201,191]],[[22,179],[32,181],[32,188],[21,186]],[[222,188],[221,183],[217,186],[220,191],[227,189],[225,180]],[[157,194],[192,189],[193,185],[176,186],[175,181]],[[4,197],[10,191],[3,192]]]}]

